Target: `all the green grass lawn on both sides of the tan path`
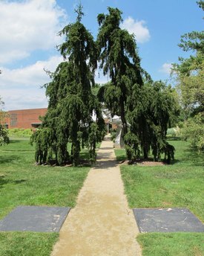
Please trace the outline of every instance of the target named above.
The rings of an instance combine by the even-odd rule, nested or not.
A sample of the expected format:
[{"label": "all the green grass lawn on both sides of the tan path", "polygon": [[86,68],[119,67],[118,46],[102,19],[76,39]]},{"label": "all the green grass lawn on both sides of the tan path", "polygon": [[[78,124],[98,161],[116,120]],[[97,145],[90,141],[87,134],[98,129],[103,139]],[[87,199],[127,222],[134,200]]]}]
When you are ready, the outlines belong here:
[{"label": "all the green grass lawn on both sides of the tan path", "polygon": [[[131,208],[186,207],[204,221],[204,158],[188,142],[173,140],[176,159],[159,167],[122,166]],[[87,152],[82,152],[86,157]],[[119,160],[125,150],[116,150]],[[89,167],[49,167],[34,164],[34,147],[12,138],[0,147],[0,219],[17,205],[76,205]],[[0,255],[50,255],[58,233],[0,232]],[[142,255],[204,255],[203,233],[149,233],[137,237]]]}]

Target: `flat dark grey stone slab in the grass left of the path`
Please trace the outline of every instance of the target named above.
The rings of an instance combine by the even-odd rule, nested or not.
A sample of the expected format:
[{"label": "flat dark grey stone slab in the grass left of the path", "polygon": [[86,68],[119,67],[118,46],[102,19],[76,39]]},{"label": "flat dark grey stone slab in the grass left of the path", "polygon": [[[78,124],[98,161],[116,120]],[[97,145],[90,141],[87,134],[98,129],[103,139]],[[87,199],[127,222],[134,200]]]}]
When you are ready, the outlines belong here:
[{"label": "flat dark grey stone slab in the grass left of the path", "polygon": [[58,232],[68,207],[19,206],[0,222],[0,231]]}]

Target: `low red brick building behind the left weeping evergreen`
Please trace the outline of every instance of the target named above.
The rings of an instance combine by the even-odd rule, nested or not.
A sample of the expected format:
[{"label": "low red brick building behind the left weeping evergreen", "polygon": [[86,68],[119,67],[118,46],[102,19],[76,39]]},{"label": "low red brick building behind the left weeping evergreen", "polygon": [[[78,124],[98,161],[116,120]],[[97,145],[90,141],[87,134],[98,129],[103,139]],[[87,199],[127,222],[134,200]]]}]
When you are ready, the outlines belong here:
[{"label": "low red brick building behind the left weeping evergreen", "polygon": [[39,117],[44,116],[46,112],[47,108],[10,110],[7,112],[7,128],[36,128],[42,123],[42,121],[39,120]]}]

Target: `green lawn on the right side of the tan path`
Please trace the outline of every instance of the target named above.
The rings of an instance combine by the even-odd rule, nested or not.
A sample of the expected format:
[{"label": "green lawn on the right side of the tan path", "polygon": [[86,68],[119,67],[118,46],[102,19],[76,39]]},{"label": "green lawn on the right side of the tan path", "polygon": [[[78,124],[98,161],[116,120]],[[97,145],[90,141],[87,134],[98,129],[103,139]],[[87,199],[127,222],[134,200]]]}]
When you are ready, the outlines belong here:
[{"label": "green lawn on the right side of the tan path", "polygon": [[[204,222],[204,156],[191,150],[186,141],[170,143],[176,148],[170,165],[121,166],[129,206],[188,208]],[[125,159],[125,150],[116,150],[116,156],[120,161]],[[149,233],[137,239],[143,255],[204,255],[204,233]]]}]

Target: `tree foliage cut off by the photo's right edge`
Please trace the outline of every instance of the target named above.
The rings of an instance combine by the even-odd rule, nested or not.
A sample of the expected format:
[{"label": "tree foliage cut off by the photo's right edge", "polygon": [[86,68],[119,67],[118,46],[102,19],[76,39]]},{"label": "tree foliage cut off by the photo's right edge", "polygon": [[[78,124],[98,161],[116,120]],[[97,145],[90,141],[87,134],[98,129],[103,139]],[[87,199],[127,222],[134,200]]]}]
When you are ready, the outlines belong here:
[{"label": "tree foliage cut off by the photo's right edge", "polygon": [[[197,1],[204,10],[204,1]],[[184,124],[182,138],[189,139],[197,150],[204,150],[204,31],[193,31],[181,36],[183,51],[191,51],[188,58],[179,58],[173,73],[177,76]]]}]

